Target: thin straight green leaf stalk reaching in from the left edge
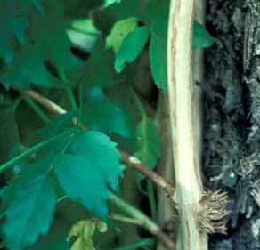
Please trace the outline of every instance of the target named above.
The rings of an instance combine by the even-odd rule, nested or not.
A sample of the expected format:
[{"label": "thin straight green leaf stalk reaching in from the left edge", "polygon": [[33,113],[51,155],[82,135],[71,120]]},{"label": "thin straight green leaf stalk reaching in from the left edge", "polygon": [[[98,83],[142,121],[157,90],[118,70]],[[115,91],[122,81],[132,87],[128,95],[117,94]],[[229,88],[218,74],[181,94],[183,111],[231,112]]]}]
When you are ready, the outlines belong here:
[{"label": "thin straight green leaf stalk reaching in from the left edge", "polygon": [[20,155],[18,155],[17,157],[13,157],[11,160],[9,160],[9,161],[5,162],[4,164],[0,165],[0,173],[3,173],[4,170],[8,169],[12,165],[19,163],[22,159],[28,157],[29,155],[36,153],[38,150],[44,149],[47,145],[53,143],[53,141],[56,141],[60,138],[63,138],[65,135],[69,135],[71,133],[72,133],[71,131],[66,131],[66,132],[61,133],[59,135],[53,136],[52,138],[49,138],[45,141],[41,141],[41,142],[37,143],[35,146],[33,146],[33,147],[27,149],[26,151],[20,153]]}]

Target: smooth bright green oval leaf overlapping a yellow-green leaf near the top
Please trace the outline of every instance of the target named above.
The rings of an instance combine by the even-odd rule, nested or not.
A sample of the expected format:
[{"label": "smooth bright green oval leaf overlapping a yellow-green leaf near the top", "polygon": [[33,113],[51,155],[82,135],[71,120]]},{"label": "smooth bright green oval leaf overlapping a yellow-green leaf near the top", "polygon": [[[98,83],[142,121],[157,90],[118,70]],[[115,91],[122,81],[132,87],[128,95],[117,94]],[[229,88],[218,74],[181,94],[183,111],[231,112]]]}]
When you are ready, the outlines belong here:
[{"label": "smooth bright green oval leaf overlapping a yellow-green leaf near the top", "polygon": [[147,27],[135,28],[123,40],[115,61],[115,69],[121,72],[126,67],[126,63],[133,62],[142,52],[144,45],[149,38]]}]

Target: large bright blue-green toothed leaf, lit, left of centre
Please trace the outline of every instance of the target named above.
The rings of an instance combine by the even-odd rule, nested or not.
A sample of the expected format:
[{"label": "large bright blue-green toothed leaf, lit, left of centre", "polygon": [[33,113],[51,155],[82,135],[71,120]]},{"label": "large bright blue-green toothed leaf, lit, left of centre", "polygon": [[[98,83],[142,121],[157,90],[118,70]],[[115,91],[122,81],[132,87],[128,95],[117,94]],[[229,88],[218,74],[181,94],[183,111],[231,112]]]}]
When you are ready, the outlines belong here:
[{"label": "large bright blue-green toothed leaf, lit, left of centre", "polygon": [[122,175],[120,155],[109,137],[93,131],[78,134],[54,171],[69,198],[102,218],[107,216],[108,186],[117,190]]}]

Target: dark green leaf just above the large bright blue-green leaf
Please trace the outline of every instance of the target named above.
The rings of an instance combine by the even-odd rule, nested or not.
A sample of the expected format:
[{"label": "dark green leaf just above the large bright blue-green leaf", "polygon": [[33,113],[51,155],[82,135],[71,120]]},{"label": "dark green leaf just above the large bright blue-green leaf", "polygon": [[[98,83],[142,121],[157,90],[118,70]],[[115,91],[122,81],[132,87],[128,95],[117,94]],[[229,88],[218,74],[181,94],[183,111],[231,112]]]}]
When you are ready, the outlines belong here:
[{"label": "dark green leaf just above the large bright blue-green leaf", "polygon": [[126,138],[131,136],[128,118],[99,87],[93,87],[88,91],[83,115],[85,124],[91,130],[118,133]]}]

